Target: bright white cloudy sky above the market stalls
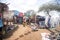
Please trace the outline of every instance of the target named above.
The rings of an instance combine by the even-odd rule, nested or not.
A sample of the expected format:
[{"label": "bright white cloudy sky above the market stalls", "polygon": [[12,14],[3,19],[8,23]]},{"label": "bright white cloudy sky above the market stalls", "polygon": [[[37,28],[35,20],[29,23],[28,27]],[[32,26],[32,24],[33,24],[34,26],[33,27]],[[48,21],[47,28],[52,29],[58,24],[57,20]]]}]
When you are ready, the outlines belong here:
[{"label": "bright white cloudy sky above the market stalls", "polygon": [[2,2],[9,3],[9,10],[17,10],[26,12],[28,10],[38,11],[39,7],[51,0],[1,0]]}]

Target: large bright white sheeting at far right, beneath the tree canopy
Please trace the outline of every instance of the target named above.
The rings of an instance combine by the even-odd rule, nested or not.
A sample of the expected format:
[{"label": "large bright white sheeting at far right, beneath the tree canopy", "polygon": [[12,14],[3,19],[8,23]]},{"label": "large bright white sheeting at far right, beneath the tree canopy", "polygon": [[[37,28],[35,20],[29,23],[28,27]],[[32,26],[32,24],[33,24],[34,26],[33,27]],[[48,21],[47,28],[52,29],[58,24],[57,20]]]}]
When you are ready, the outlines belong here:
[{"label": "large bright white sheeting at far right, beneath the tree canopy", "polygon": [[60,22],[59,12],[51,11],[50,14],[51,14],[51,19],[50,19],[51,27],[59,26],[59,22]]}]

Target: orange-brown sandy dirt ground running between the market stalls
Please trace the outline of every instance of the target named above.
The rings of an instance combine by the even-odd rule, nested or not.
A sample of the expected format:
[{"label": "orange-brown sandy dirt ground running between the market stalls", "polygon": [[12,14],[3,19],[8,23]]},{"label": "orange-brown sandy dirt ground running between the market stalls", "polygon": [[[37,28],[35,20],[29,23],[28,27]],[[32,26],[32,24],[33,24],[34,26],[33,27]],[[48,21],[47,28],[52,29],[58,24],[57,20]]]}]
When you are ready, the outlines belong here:
[{"label": "orange-brown sandy dirt ground running between the market stalls", "polygon": [[50,33],[47,29],[32,31],[29,26],[23,27],[23,25],[19,25],[19,28],[13,33],[13,35],[4,40],[42,40],[41,33],[43,32]]}]

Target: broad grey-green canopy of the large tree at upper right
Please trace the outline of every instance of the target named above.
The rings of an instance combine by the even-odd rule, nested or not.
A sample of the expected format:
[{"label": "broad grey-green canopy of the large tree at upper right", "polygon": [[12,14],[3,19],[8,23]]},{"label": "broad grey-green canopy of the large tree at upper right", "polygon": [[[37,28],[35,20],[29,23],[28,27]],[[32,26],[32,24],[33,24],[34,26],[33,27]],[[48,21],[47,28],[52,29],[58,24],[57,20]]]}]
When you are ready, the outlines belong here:
[{"label": "broad grey-green canopy of the large tree at upper right", "polygon": [[40,8],[39,8],[39,10],[38,10],[38,12],[40,12],[40,11],[46,11],[47,12],[47,14],[49,14],[49,11],[52,11],[52,10],[57,10],[57,11],[60,11],[60,4],[58,3],[58,1],[57,0],[55,0],[55,3],[51,3],[51,2],[48,2],[48,3],[46,3],[46,4],[43,4]]}]

